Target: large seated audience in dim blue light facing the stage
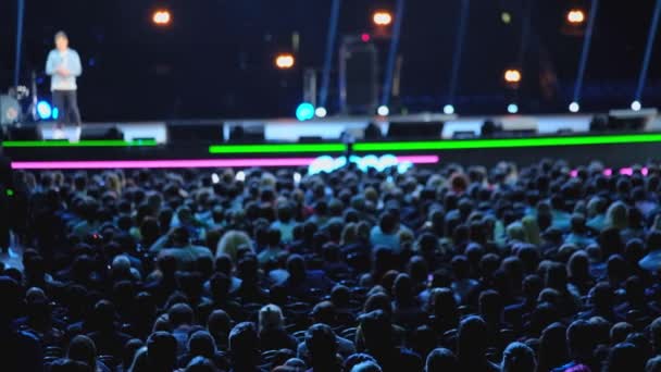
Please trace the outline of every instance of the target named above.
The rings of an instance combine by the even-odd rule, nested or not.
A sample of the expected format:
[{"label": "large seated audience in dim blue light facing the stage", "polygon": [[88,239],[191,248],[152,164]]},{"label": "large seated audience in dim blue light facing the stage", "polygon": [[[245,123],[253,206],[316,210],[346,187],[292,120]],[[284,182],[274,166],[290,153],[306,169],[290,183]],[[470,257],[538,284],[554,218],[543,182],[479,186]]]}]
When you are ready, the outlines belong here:
[{"label": "large seated audience in dim blue light facing the stage", "polygon": [[16,172],[0,371],[661,371],[661,168],[603,171]]}]

